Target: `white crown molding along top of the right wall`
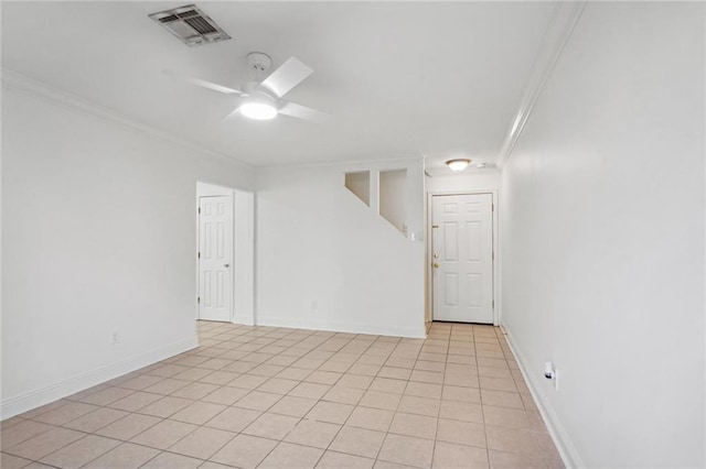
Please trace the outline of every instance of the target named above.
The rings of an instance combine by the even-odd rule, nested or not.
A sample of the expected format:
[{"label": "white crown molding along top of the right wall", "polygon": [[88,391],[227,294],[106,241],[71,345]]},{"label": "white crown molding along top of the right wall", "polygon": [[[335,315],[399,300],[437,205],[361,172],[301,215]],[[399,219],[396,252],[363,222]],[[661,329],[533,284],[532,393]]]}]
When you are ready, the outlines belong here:
[{"label": "white crown molding along top of the right wall", "polygon": [[495,159],[495,165],[502,172],[510,160],[515,144],[524,130],[525,123],[534,109],[544,85],[554,70],[576,23],[578,22],[587,0],[561,0],[554,8],[549,25],[544,33],[542,45],[530,72],[530,78],[522,95],[520,106],[507,130],[503,145]]}]

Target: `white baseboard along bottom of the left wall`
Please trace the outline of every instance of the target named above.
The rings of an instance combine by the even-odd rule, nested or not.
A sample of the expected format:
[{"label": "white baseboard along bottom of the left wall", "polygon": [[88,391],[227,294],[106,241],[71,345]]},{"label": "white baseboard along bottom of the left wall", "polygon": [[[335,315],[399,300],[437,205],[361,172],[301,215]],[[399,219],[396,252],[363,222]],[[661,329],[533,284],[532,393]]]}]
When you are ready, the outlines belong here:
[{"label": "white baseboard along bottom of the left wall", "polygon": [[87,390],[96,384],[121,377],[126,373],[139,370],[140,368],[157,363],[158,361],[183,353],[196,347],[199,347],[199,340],[196,339],[194,329],[194,337],[178,340],[164,347],[138,353],[125,360],[99,367],[86,373],[3,400],[0,403],[0,418],[6,419],[23,412],[31,411],[32,408],[36,408],[44,404],[49,404],[50,402],[66,397],[67,395]]}]

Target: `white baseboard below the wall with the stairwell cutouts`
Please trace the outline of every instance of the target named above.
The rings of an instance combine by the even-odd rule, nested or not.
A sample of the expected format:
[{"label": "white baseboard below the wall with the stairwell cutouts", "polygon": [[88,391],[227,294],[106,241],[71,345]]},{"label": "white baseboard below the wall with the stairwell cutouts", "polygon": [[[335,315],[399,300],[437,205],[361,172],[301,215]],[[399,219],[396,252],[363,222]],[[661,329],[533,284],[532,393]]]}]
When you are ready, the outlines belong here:
[{"label": "white baseboard below the wall with the stairwell cutouts", "polygon": [[328,323],[308,321],[291,317],[256,317],[255,324],[269,327],[290,327],[293,329],[327,330],[331,332],[368,334],[372,336],[408,337],[424,339],[427,337],[424,323],[419,327],[400,327],[389,325],[356,324],[356,323]]}]

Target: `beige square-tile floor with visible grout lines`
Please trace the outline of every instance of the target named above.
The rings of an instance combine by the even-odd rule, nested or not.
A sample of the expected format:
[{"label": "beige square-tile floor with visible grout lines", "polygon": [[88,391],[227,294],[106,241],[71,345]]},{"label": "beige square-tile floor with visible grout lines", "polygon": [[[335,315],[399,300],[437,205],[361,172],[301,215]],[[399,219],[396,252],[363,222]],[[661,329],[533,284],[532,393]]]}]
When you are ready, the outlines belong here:
[{"label": "beige square-tile floor with visible grout lines", "polygon": [[499,328],[197,327],[197,349],[2,422],[0,466],[563,467]]}]

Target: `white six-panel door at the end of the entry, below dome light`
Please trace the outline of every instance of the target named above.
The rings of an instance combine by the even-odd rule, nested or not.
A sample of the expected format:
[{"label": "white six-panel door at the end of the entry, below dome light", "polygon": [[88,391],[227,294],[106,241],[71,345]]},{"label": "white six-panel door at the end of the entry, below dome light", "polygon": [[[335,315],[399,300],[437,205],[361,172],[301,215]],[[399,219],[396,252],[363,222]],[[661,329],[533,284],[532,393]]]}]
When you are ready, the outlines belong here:
[{"label": "white six-panel door at the end of the entry, below dome light", "polygon": [[434,319],[493,323],[493,195],[434,196]]}]

